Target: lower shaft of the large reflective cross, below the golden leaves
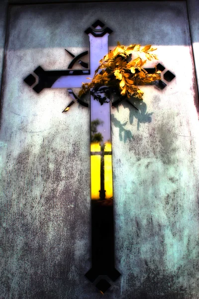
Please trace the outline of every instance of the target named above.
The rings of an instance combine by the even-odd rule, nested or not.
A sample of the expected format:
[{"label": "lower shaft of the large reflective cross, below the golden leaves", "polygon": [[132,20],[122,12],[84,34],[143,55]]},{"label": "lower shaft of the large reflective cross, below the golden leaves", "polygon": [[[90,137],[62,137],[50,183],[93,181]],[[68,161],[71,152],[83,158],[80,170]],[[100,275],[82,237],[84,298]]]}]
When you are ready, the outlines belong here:
[{"label": "lower shaft of the large reflective cross, below the golden leaves", "polygon": [[96,121],[99,128],[91,135],[92,269],[86,277],[104,293],[120,276],[114,267],[110,103],[91,102],[91,127]]}]

